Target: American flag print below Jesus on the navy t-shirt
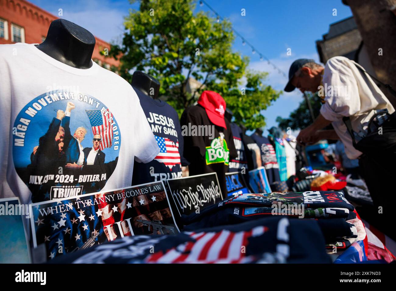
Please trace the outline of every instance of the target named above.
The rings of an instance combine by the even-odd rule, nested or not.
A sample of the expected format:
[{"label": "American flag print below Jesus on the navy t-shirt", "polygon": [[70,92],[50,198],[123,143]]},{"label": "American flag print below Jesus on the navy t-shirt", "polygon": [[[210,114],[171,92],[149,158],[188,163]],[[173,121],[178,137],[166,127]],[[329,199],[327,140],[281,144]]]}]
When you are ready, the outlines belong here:
[{"label": "American flag print below Jesus on the navy t-shirt", "polygon": [[155,135],[155,140],[160,148],[160,153],[154,158],[154,160],[165,164],[172,170],[172,167],[180,163],[179,154],[179,142],[173,142],[169,138],[162,138]]}]

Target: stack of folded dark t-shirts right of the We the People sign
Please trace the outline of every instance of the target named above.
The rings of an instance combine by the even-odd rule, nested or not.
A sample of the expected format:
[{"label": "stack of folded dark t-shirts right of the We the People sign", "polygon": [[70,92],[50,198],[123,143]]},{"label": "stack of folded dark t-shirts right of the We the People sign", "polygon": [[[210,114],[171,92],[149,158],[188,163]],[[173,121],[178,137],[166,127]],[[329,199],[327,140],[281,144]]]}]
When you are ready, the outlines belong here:
[{"label": "stack of folded dark t-shirts right of the We the People sign", "polygon": [[243,194],[228,198],[190,215],[182,215],[187,231],[237,224],[272,215],[316,219],[329,248],[346,248],[345,240],[356,238],[357,230],[347,220],[355,219],[354,206],[342,191],[274,192]]}]

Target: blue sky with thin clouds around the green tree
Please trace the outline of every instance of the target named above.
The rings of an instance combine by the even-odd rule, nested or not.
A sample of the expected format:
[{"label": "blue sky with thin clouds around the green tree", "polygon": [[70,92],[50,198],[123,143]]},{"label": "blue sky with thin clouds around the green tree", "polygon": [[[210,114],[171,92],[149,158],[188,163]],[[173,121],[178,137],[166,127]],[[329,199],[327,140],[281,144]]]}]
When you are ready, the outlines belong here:
[{"label": "blue sky with thin clouds around the green tree", "polygon": [[[107,42],[120,41],[123,32],[123,16],[128,10],[138,9],[138,4],[128,0],[30,0],[37,6],[58,15],[63,9],[63,17],[91,31]],[[206,0],[224,18],[228,18],[234,28],[244,36],[258,51],[263,53],[286,75],[295,59],[310,58],[319,61],[315,41],[327,33],[331,23],[352,16],[349,6],[341,0]],[[197,2],[198,4],[198,2]],[[209,11],[197,5],[197,10]],[[241,15],[246,9],[246,16]],[[333,16],[333,9],[337,15]],[[215,15],[211,14],[213,17]],[[248,45],[236,38],[234,48],[250,57],[249,68],[269,72],[267,83],[282,90],[287,79],[274,70],[267,62],[260,61]],[[287,49],[291,55],[286,55]],[[302,94],[295,90],[284,93],[263,115],[267,126],[276,126],[277,116],[288,117],[303,100]]]}]

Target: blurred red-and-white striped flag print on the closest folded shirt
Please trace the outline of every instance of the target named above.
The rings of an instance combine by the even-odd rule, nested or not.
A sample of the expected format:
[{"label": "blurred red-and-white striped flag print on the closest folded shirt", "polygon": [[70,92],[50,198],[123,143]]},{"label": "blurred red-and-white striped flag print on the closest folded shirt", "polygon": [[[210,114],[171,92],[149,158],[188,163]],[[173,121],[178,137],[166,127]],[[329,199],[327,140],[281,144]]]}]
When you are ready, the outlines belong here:
[{"label": "blurred red-and-white striped flag print on the closest folded shirt", "polygon": [[249,263],[252,257],[246,257],[242,246],[249,244],[248,239],[261,236],[268,227],[257,226],[249,231],[232,232],[185,232],[192,241],[185,242],[165,252],[149,255],[145,263]]}]

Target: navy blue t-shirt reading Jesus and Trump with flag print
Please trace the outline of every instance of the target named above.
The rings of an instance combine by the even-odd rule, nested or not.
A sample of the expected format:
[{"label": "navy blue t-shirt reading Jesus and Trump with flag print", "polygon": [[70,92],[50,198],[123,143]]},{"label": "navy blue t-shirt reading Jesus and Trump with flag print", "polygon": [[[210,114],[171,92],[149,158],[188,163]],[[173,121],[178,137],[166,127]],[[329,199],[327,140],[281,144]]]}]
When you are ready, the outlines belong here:
[{"label": "navy blue t-shirt reading Jesus and Trump with flag print", "polygon": [[162,100],[154,100],[139,89],[133,89],[139,97],[160,153],[147,164],[135,161],[132,185],[180,178],[181,166],[187,166],[188,162],[183,157],[183,136],[176,110]]}]

